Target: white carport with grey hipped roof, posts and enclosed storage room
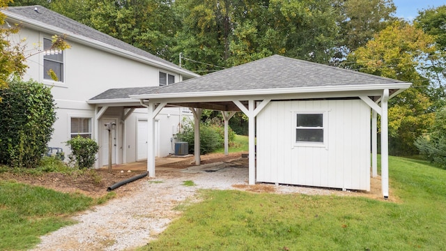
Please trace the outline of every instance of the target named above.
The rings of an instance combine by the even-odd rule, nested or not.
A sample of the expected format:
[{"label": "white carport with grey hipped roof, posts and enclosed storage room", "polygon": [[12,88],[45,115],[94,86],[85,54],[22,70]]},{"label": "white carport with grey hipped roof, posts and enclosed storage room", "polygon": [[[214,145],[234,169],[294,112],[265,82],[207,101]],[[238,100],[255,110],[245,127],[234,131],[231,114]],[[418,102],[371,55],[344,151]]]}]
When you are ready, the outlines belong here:
[{"label": "white carport with grey hipped roof, posts and enclosed storage room", "polygon": [[[266,182],[368,190],[369,184],[367,186],[367,181],[370,183],[370,175],[377,175],[376,128],[377,114],[380,114],[381,180],[383,197],[387,198],[389,194],[387,100],[409,87],[410,83],[394,79],[275,55],[241,66],[220,70],[203,77],[161,86],[146,93],[130,95],[130,98],[138,99],[140,105],[148,109],[148,142],[154,142],[155,116],[163,107],[190,107],[194,113],[195,121],[194,151],[196,165],[200,165],[199,119],[202,110],[221,111],[224,116],[225,128],[227,128],[228,121],[235,112],[246,114],[249,119],[249,185],[259,181],[259,179],[256,179],[257,172],[257,174],[261,173],[263,177],[266,177],[260,181]],[[264,129],[265,126],[261,126],[263,129],[256,135],[256,129],[259,130],[256,127],[256,118],[266,107],[272,109],[270,108],[273,107],[272,103],[291,108],[286,110],[274,108],[277,111],[270,111],[270,114],[284,114],[275,116],[274,120],[277,119],[277,121],[271,121],[272,119],[262,116],[259,125],[260,123],[262,125],[266,123],[269,125],[268,128],[272,128],[272,130],[268,131],[268,129]],[[293,107],[293,104],[295,107]],[[297,125],[295,125],[296,115],[298,118]],[[320,116],[321,125],[311,126],[306,125],[305,122],[299,122],[299,118],[306,115]],[[257,119],[259,120],[259,118]],[[291,124],[288,124],[290,121]],[[322,121],[324,122],[322,123]],[[334,128],[335,121],[337,121],[338,129]],[[289,126],[289,130],[278,129],[284,124],[286,124],[286,127]],[[333,129],[331,129],[332,127]],[[349,142],[343,143],[343,139],[334,138],[334,135],[336,135],[334,132],[339,128],[342,129],[342,127],[358,128],[358,130],[352,130],[353,132],[350,135],[348,135],[350,132],[339,133],[341,135],[339,137],[348,138]],[[280,169],[274,171],[276,170],[275,167],[266,167],[263,164],[263,162],[268,162],[268,158],[261,157],[259,154],[270,151],[268,147],[272,145],[271,141],[266,140],[268,137],[265,134],[282,133],[281,131],[286,131],[286,139],[284,139],[286,143],[274,142],[274,144],[285,145],[283,148],[285,153],[283,156],[282,153],[277,153],[277,156],[268,158],[286,157],[290,161],[285,162],[283,167],[281,166]],[[313,137],[308,137],[303,139],[303,142],[299,142],[302,140],[302,136],[298,136],[298,133],[304,131],[306,135],[313,133],[317,135],[321,132],[320,139],[314,140]],[[355,141],[356,138],[358,141]],[[227,137],[225,143],[227,144]],[[259,149],[263,150],[259,151]],[[360,149],[358,150],[360,153],[357,153],[356,149]],[[149,144],[147,169],[150,176],[155,176],[154,150],[154,145]],[[305,154],[302,154],[302,150],[306,151]],[[371,174],[370,153],[372,155]],[[260,164],[261,166],[259,170],[256,170],[256,154],[257,165]],[[325,155],[326,160],[323,161],[327,163],[321,164],[318,162],[317,167],[311,167],[308,161],[305,165],[302,163],[293,164],[297,163],[293,162],[295,158],[298,160],[314,160],[325,158],[323,157]],[[339,164],[332,163],[330,158],[336,157],[330,156],[334,155],[338,155],[334,162],[339,162]],[[356,160],[355,155],[362,157],[357,159],[357,164],[353,163],[352,165],[351,162],[348,162],[350,161],[348,159]],[[331,165],[334,168],[331,168]],[[296,166],[299,166],[299,170],[302,171],[296,171]],[[283,172],[284,174],[281,175],[284,178],[276,174],[270,175],[275,176],[275,178],[268,178],[268,175],[263,174],[265,170],[270,172],[268,168],[273,173]],[[312,172],[312,174],[309,175],[309,172]],[[337,177],[330,177],[331,173],[336,174]],[[311,176],[311,178],[307,178],[308,181],[302,179],[304,174]],[[287,176],[295,176],[296,178],[289,181]],[[338,179],[339,181],[332,182],[331,179]],[[362,185],[356,186],[356,180],[363,180]]]}]

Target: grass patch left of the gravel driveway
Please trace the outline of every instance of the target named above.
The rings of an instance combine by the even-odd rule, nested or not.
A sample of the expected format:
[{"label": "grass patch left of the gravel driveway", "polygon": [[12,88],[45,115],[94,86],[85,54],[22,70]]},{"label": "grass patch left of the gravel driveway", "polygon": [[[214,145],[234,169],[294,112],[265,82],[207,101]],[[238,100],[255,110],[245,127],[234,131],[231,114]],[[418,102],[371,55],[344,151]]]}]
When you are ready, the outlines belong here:
[{"label": "grass patch left of the gravel driveway", "polygon": [[39,237],[74,222],[66,217],[95,204],[90,197],[0,181],[0,250],[26,250]]}]

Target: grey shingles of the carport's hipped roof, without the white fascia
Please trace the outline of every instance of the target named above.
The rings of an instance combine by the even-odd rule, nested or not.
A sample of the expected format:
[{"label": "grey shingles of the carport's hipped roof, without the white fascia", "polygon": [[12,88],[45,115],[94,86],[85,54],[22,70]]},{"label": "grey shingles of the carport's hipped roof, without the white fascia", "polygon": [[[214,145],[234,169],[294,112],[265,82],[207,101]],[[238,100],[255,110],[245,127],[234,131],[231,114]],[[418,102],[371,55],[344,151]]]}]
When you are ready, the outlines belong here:
[{"label": "grey shingles of the carport's hipped roof, without the white fascia", "polygon": [[366,73],[358,73],[354,70],[274,55],[202,77],[153,89],[144,94],[398,83],[404,82]]}]

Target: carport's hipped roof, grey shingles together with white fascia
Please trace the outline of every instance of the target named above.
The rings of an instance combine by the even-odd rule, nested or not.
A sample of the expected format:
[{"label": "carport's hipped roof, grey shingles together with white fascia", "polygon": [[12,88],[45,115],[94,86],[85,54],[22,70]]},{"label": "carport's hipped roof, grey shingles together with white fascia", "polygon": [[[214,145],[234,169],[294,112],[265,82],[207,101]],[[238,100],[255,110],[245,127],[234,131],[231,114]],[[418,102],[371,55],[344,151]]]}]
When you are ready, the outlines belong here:
[{"label": "carport's hipped roof, grey shingles together with white fascia", "polygon": [[410,83],[395,79],[274,55],[132,97],[171,98],[204,93],[240,96],[292,91],[406,89],[408,86]]}]

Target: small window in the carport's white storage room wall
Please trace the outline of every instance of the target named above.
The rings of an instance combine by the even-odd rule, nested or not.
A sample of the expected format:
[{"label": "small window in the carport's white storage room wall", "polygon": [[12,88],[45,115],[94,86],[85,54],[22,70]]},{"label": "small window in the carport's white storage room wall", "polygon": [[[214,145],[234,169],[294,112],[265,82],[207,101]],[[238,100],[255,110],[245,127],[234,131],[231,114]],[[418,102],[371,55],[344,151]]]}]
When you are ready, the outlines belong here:
[{"label": "small window in the carport's white storage room wall", "polygon": [[295,142],[323,143],[323,114],[296,114]]}]

